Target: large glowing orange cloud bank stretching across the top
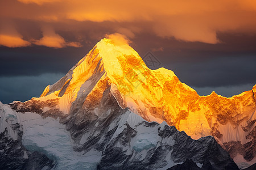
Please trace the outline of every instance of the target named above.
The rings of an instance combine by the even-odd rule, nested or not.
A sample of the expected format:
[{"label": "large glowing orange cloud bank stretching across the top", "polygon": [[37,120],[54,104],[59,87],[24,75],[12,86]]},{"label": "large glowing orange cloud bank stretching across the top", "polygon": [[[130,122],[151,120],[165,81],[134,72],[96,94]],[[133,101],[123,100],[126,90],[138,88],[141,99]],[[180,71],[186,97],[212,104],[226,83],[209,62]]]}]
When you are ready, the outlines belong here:
[{"label": "large glowing orange cloud bank stretching across the top", "polygon": [[[63,23],[68,27],[74,20],[79,23],[108,21],[120,25],[114,32],[123,29],[122,32],[129,37],[133,37],[135,32],[127,30],[125,24],[161,37],[210,44],[220,42],[216,36],[218,31],[256,33],[255,0],[19,0],[19,3],[10,0],[0,2],[0,11],[0,18],[54,21],[56,27]],[[51,40],[59,44],[56,46],[63,46],[63,40],[57,36],[55,38]],[[39,44],[46,42],[42,40]]]}]

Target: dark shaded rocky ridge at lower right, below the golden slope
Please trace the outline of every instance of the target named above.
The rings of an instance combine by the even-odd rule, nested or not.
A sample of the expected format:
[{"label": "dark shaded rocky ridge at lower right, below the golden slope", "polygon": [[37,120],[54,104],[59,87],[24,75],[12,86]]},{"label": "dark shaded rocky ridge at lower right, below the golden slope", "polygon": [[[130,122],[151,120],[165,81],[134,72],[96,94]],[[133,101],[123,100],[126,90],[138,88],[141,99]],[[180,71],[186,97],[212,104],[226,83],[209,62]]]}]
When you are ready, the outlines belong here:
[{"label": "dark shaded rocky ridge at lower right, below the golden slope", "polygon": [[[139,157],[139,152],[133,150],[130,155],[126,155],[126,151],[122,150],[122,147],[114,147],[114,143],[121,141],[121,138],[115,139],[115,141],[111,142],[110,145],[106,147],[106,150],[104,150],[98,168],[156,169],[162,168],[164,165],[168,164],[167,160],[179,163],[183,161],[186,162],[187,159],[192,159],[196,163],[203,164],[204,169],[238,169],[230,156],[217,144],[213,137],[206,137],[201,139],[201,141],[195,141],[185,135],[185,133],[179,133],[174,126],[167,127],[176,131],[169,137],[175,141],[174,145],[168,145],[167,143],[161,143],[159,141],[158,147],[151,147],[146,151],[145,159],[138,160],[136,158]],[[171,153],[170,157],[166,159],[169,153]],[[189,168],[191,164],[185,163],[184,166]],[[201,169],[199,167],[197,168]],[[181,166],[181,169],[184,169],[184,167]]]}]

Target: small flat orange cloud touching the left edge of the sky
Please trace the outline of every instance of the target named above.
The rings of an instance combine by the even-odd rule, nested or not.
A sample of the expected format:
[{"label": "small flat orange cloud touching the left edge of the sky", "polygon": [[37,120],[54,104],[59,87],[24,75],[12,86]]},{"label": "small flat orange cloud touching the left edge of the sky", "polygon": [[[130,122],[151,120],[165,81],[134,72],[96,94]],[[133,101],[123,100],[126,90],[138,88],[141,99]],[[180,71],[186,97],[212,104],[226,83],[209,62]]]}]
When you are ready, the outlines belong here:
[{"label": "small flat orange cloud touching the left edge of the sky", "polygon": [[10,48],[23,47],[31,45],[30,42],[23,40],[20,36],[0,34],[0,45]]}]

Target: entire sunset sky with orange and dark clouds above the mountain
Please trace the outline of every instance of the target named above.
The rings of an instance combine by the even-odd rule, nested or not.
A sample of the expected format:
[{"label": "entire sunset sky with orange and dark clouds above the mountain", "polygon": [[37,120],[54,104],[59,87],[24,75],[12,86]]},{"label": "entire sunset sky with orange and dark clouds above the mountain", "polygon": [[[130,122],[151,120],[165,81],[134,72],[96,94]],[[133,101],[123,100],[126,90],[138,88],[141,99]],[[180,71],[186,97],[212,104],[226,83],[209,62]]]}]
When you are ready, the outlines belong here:
[{"label": "entire sunset sky with orange and dark clouds above the mountain", "polygon": [[113,33],[151,69],[231,97],[256,84],[255,16],[255,0],[1,0],[0,101],[39,97]]}]

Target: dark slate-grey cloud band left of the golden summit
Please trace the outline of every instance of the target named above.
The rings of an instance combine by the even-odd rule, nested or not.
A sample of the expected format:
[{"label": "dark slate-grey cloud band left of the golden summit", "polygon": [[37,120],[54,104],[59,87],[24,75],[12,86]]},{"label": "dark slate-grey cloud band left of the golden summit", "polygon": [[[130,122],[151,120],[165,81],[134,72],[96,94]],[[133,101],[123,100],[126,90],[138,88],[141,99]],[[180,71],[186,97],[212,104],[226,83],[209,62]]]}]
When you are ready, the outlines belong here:
[{"label": "dark slate-grey cloud band left of the golden summit", "polygon": [[[92,47],[89,47],[92,48]],[[90,49],[0,48],[0,76],[67,73]],[[86,50],[86,52],[84,51]]]}]

